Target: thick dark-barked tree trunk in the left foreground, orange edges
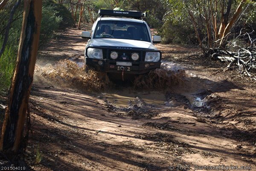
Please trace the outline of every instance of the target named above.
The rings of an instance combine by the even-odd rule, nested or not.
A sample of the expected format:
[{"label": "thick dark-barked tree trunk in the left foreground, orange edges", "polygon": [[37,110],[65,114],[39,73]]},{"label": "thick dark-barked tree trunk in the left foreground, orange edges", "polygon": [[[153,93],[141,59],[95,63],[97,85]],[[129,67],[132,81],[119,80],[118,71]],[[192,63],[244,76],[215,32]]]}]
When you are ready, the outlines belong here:
[{"label": "thick dark-barked tree trunk in the left foreground, orange edges", "polygon": [[9,103],[0,141],[0,150],[15,160],[22,149],[23,127],[38,51],[42,17],[42,0],[24,0],[23,23]]}]

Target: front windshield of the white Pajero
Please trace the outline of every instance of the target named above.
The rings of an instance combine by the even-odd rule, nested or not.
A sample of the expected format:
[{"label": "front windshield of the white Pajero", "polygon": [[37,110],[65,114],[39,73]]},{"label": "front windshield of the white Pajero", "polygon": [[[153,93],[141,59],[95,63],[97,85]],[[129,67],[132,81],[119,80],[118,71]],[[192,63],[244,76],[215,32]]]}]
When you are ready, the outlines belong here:
[{"label": "front windshield of the white Pajero", "polygon": [[131,39],[150,42],[144,23],[129,21],[99,21],[93,38]]}]

